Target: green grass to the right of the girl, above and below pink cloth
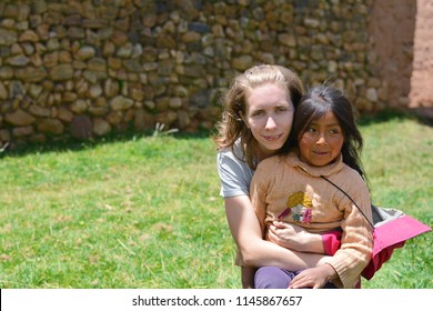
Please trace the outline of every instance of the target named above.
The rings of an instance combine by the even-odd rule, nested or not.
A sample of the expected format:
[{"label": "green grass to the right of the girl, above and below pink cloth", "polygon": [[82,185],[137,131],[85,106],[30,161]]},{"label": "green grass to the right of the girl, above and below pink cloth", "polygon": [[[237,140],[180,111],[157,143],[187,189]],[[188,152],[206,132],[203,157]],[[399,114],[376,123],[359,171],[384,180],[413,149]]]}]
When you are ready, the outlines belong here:
[{"label": "green grass to the right of the girl, above and below pink cloth", "polygon": [[[362,127],[373,203],[433,227],[433,128],[395,117]],[[432,232],[409,240],[364,288],[432,289]]]}]

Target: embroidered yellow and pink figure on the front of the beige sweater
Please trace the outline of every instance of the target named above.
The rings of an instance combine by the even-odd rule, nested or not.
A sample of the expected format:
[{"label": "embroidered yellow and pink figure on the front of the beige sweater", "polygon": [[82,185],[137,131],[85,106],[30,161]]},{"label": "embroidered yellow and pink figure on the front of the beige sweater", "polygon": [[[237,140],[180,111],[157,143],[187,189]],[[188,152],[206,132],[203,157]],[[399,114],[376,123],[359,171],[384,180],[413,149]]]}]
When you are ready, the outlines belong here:
[{"label": "embroidered yellow and pink figure on the front of the beige sweater", "polygon": [[280,215],[279,219],[291,214],[294,221],[310,223],[313,209],[313,201],[304,192],[295,192],[291,194],[285,203],[288,207]]}]

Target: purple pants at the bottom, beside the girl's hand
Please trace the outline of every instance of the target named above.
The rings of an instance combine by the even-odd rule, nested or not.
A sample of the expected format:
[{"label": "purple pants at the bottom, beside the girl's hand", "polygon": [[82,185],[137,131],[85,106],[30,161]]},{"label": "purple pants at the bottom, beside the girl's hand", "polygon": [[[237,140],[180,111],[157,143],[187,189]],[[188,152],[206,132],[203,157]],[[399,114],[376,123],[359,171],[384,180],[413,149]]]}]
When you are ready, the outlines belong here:
[{"label": "purple pants at the bottom, beside the girl's hand", "polygon": [[[254,287],[256,289],[286,289],[301,271],[292,272],[278,267],[262,267],[255,272]],[[331,282],[328,282],[323,288],[336,289]]]}]

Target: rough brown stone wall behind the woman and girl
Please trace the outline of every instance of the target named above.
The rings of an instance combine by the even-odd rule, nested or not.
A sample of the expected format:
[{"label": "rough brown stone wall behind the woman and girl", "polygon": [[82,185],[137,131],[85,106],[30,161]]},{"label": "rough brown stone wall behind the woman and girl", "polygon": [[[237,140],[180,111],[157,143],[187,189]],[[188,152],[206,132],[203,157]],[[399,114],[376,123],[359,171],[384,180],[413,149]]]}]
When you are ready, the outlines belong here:
[{"label": "rough brown stone wall behind the woman and girl", "polygon": [[[294,69],[305,86],[344,88],[360,112],[380,110],[395,77],[382,74],[390,54],[377,37],[394,29],[372,28],[375,2],[0,1],[0,146],[157,122],[209,129],[233,76],[263,62]],[[412,2],[391,8],[391,27],[407,18],[402,10],[413,12]],[[399,66],[411,66],[402,52]]]}]

